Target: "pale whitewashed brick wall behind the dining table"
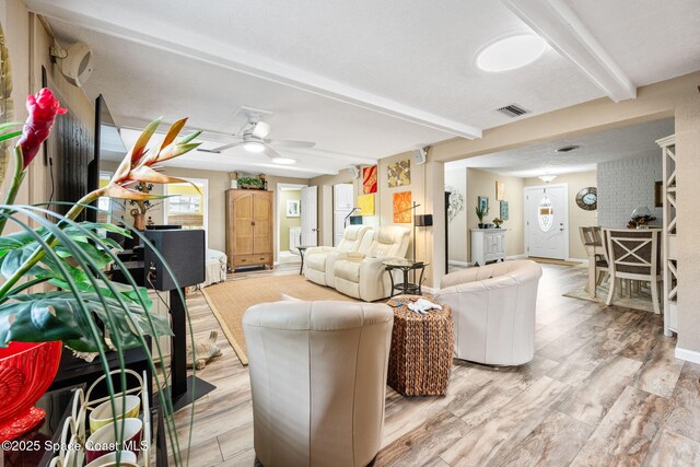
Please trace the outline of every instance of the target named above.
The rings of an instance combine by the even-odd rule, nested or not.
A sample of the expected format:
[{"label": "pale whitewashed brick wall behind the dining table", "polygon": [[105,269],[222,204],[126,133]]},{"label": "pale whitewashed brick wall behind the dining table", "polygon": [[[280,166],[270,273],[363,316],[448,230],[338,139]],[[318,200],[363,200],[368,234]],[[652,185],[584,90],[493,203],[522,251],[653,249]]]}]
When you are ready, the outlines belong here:
[{"label": "pale whitewashed brick wall behind the dining table", "polygon": [[661,208],[654,208],[654,183],[663,178],[661,150],[656,155],[622,159],[597,164],[598,222],[604,227],[625,227],[630,214],[648,207],[661,222]]}]

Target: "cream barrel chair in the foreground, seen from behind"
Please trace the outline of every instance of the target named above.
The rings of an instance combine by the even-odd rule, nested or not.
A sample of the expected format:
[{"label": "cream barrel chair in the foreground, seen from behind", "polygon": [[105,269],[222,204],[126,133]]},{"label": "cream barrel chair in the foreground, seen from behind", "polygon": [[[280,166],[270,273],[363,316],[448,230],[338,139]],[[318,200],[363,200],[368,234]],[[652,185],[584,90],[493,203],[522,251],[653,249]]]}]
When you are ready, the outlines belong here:
[{"label": "cream barrel chair in the foreground, seen from behind", "polygon": [[382,445],[394,314],[384,304],[276,302],[243,330],[265,467],[365,466]]}]

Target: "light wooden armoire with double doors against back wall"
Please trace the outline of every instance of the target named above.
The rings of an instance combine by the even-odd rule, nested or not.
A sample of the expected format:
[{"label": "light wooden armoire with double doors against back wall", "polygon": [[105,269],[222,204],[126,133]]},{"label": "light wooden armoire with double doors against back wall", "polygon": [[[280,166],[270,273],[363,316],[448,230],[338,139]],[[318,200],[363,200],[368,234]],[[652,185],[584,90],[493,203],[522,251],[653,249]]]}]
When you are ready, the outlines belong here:
[{"label": "light wooden armoire with double doors against back wall", "polygon": [[231,269],[272,267],[272,191],[226,190],[226,256]]}]

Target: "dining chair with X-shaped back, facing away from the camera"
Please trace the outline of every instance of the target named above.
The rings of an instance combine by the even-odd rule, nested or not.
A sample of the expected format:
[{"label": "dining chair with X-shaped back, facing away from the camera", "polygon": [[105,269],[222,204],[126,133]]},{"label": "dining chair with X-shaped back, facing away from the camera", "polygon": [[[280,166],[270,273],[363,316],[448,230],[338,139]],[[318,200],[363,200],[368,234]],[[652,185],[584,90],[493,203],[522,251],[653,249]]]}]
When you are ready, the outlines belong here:
[{"label": "dining chair with X-shaped back, facing away from the camera", "polygon": [[658,229],[603,229],[603,244],[608,258],[610,292],[606,303],[612,304],[618,279],[650,282],[654,313],[661,313],[660,285],[661,242]]}]

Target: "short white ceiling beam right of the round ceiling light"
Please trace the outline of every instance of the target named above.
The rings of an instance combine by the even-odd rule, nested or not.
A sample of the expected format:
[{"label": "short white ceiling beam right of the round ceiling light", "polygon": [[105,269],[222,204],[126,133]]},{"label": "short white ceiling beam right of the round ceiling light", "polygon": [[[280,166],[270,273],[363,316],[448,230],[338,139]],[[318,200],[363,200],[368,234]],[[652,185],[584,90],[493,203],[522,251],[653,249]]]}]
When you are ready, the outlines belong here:
[{"label": "short white ceiling beam right of the round ceiling light", "polygon": [[501,1],[612,101],[637,97],[634,83],[564,0]]}]

